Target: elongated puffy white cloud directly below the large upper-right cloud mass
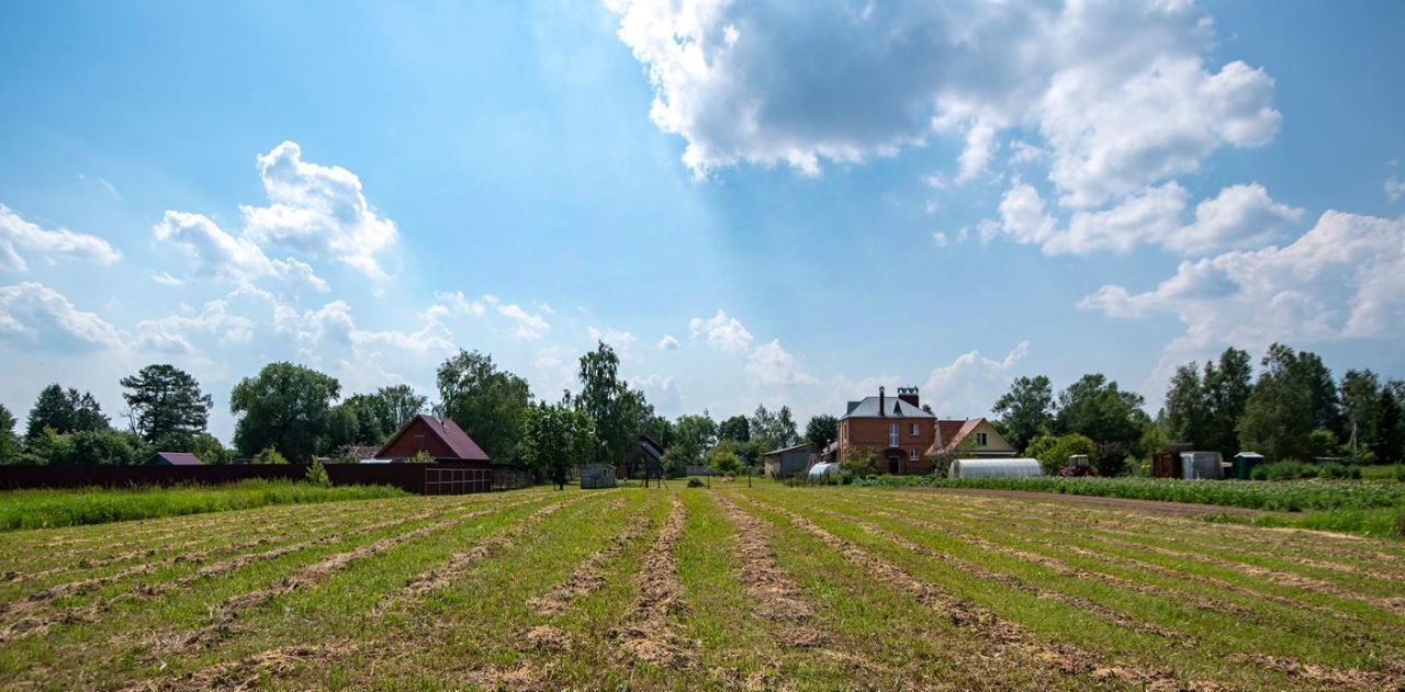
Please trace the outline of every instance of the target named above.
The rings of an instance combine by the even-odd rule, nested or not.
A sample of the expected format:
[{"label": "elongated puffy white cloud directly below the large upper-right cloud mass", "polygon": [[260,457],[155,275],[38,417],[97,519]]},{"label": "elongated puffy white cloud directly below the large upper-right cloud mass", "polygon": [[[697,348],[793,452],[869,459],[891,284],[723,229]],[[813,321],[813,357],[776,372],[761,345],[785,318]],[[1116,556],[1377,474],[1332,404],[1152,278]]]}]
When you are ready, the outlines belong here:
[{"label": "elongated puffy white cloud directly below the large upper-right cloud mass", "polygon": [[1284,237],[1302,209],[1276,202],[1263,185],[1231,185],[1189,212],[1190,192],[1170,181],[1099,211],[1078,211],[1068,227],[1045,208],[1043,197],[1020,180],[1006,191],[999,219],[981,223],[985,240],[1009,237],[1040,246],[1045,254],[1127,253],[1159,246],[1183,255],[1259,247]]}]

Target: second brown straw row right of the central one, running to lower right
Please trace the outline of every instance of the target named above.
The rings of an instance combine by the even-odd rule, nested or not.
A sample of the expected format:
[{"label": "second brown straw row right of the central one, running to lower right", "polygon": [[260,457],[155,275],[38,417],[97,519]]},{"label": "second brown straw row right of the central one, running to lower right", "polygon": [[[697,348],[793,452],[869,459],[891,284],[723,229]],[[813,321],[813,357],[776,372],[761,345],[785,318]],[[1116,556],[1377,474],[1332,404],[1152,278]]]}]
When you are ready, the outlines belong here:
[{"label": "second brown straw row right of the central one, running to lower right", "polygon": [[[747,503],[756,500],[746,498]],[[791,525],[839,550],[846,559],[894,587],[910,592],[917,602],[936,611],[958,629],[971,632],[996,650],[1003,658],[1024,658],[1031,664],[1043,664],[1064,675],[1086,675],[1094,681],[1117,681],[1141,685],[1149,691],[1173,689],[1217,689],[1211,684],[1183,682],[1170,671],[1103,661],[1100,656],[1080,650],[1066,643],[1041,643],[1034,633],[1009,619],[996,615],[964,598],[947,594],[924,583],[905,570],[880,559],[858,545],[836,536],[799,512],[776,504],[766,504]]]}]

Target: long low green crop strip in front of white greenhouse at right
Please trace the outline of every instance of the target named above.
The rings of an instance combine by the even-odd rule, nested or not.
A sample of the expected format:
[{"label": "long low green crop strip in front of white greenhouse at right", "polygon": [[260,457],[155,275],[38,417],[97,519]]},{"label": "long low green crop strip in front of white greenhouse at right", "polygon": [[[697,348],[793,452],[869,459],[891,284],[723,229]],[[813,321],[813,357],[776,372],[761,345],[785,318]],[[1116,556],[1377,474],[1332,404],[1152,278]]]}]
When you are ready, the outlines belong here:
[{"label": "long low green crop strip in front of white greenhouse at right", "polygon": [[1072,495],[1123,497],[1246,507],[1297,512],[1305,510],[1373,510],[1405,507],[1405,484],[1359,481],[1238,481],[1176,479],[936,479],[933,487],[1030,490]]}]

